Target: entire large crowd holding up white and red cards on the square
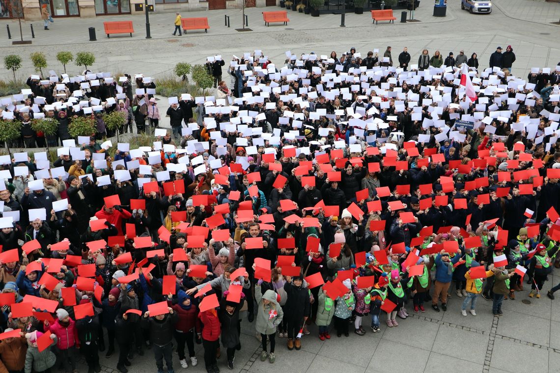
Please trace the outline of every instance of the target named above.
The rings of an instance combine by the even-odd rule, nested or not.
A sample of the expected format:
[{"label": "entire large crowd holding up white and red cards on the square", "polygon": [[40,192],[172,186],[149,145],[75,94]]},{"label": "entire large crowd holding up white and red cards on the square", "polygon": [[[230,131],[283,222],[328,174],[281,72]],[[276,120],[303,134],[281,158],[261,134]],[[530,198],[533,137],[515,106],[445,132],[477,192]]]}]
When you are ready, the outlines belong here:
[{"label": "entire large crowd holding up white and red cards on the square", "polygon": [[[520,78],[390,51],[281,66],[255,50],[227,63],[229,87],[209,56],[214,96],[169,98],[171,131],[141,74],[32,75],[0,101],[22,143],[59,156],[0,156],[0,372],[76,372],[80,355],[100,372],[118,352],[126,373],[150,348],[172,373],[199,343],[216,373],[242,327],[274,363],[277,337],[300,350],[311,331],[406,328],[426,302],[475,317],[482,295],[478,317],[500,317],[525,285],[541,298],[560,267],[560,66]],[[101,141],[115,110],[153,143]],[[72,138],[82,116],[96,132]]]}]

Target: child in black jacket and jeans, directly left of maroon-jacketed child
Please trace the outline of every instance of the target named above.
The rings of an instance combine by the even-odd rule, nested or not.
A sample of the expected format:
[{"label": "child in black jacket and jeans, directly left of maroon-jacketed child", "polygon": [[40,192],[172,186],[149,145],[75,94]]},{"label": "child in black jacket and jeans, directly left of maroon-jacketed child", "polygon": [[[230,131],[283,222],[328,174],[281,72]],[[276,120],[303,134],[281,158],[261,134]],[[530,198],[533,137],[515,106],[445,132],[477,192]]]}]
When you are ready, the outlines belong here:
[{"label": "child in black jacket and jeans, directly left of maroon-jacketed child", "polygon": [[150,311],[144,312],[141,325],[143,329],[148,330],[158,373],[164,371],[164,359],[167,365],[167,372],[173,373],[172,339],[173,330],[175,330],[175,324],[179,320],[179,315],[171,307],[165,308],[167,304],[164,302],[156,303],[155,305],[158,305],[157,314],[151,316]]}]

